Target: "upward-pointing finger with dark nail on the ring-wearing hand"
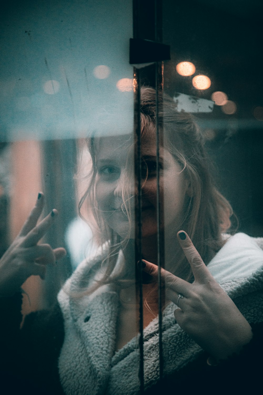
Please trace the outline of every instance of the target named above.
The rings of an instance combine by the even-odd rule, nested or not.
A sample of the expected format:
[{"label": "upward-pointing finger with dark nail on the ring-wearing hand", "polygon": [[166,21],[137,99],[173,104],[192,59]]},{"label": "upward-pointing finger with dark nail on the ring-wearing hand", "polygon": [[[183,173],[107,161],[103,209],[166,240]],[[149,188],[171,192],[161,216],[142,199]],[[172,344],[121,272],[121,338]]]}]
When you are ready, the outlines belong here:
[{"label": "upward-pointing finger with dark nail on the ring-wearing hand", "polygon": [[194,278],[199,282],[207,282],[207,280],[214,279],[188,234],[180,230],[177,233],[177,239],[190,263]]}]

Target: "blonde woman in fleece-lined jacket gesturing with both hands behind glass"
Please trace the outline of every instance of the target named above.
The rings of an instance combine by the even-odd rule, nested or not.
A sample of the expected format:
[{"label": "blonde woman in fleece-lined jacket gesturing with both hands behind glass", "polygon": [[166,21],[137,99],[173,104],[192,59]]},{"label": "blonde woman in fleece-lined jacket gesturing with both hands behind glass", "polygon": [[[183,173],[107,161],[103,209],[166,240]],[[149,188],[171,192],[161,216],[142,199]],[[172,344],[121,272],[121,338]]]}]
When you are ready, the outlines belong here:
[{"label": "blonde woman in fleece-lined jacket gesturing with both hands behind glass", "polygon": [[[229,374],[229,363],[233,361],[241,374],[253,372],[256,378],[255,351],[262,349],[257,334],[263,302],[261,240],[243,234],[222,235],[230,226],[231,207],[213,185],[200,131],[190,116],[176,112],[175,103],[167,96],[163,101],[160,96],[163,139],[157,163],[155,91],[144,88],[141,97],[145,389],[160,391],[157,166],[160,230],[165,242],[162,279],[166,290],[162,308],[164,380],[160,385],[162,389],[172,385],[185,390],[189,378],[201,378],[211,386],[223,374],[237,389],[236,377]],[[139,393],[138,295],[133,280],[138,260],[134,241],[138,191],[132,181],[131,136],[91,139],[90,154],[91,180],[80,206],[88,200],[90,221],[97,225],[101,248],[67,281],[58,295],[59,307],[50,313],[55,315],[50,318],[43,312],[31,314],[22,332],[32,341],[41,330],[41,337],[35,340],[36,350],[45,359],[40,357],[35,382],[53,375],[54,393],[62,388],[66,394]],[[19,239],[1,260],[5,273],[2,294],[17,291],[30,274],[43,275],[45,263],[65,253],[61,248],[52,251],[37,245],[56,214],[52,211],[53,217],[36,225],[42,201],[41,195]],[[14,265],[18,256],[19,264]],[[27,264],[29,257],[31,263]],[[12,271],[10,264],[15,267]],[[17,281],[11,282],[14,276]],[[45,345],[39,350],[39,339],[43,338]],[[15,354],[19,345],[13,348]],[[32,365],[35,357],[30,355],[28,364]],[[244,365],[248,357],[254,358],[249,367]],[[220,384],[222,380],[217,382],[217,389]]]}]

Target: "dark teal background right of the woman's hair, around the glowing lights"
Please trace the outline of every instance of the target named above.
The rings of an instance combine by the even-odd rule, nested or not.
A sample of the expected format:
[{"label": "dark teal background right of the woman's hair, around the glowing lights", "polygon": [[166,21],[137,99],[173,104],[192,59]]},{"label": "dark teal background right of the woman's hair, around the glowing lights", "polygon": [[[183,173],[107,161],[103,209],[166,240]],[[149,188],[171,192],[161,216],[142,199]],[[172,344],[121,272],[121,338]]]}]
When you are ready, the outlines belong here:
[{"label": "dark teal background right of the woman's hair, around the glowing lights", "polygon": [[[140,7],[140,37],[155,40],[153,2],[142,1]],[[252,236],[263,234],[263,116],[256,120],[253,113],[263,107],[262,11],[256,0],[163,0],[157,15],[157,40],[171,47],[171,60],[164,61],[164,91],[210,100],[213,92],[223,91],[237,105],[233,115],[215,105],[213,113],[197,117],[204,132],[208,128],[214,134],[207,149],[218,188],[237,215],[238,231]],[[181,61],[194,63],[195,75],[207,75],[211,87],[196,90],[193,75],[176,72]],[[142,83],[154,86],[153,66],[141,74]]]}]

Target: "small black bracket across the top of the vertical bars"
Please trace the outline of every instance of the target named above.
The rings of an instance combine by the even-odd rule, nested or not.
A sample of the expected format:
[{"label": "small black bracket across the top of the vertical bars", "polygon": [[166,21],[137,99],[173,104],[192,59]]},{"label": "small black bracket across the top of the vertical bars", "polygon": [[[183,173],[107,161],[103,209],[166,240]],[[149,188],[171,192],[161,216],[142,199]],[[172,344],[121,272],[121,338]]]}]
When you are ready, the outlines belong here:
[{"label": "small black bracket across the top of the vertical bars", "polygon": [[142,38],[130,38],[130,64],[170,60],[170,45]]}]

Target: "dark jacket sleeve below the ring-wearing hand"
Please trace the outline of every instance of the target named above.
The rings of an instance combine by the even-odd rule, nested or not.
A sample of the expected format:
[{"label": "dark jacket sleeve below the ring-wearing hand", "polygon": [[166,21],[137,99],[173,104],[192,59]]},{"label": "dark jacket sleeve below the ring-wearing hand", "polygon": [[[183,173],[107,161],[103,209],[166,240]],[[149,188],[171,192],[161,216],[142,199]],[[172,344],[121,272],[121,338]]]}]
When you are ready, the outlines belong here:
[{"label": "dark jacket sleeve below the ring-wearing hand", "polygon": [[257,393],[261,387],[263,322],[251,324],[252,340],[243,346],[241,352],[233,354],[217,365],[207,364],[208,354],[203,353],[198,359],[185,367],[164,377],[162,382],[150,387],[145,394],[175,394],[188,391],[205,391],[209,393]]}]

